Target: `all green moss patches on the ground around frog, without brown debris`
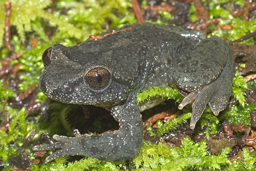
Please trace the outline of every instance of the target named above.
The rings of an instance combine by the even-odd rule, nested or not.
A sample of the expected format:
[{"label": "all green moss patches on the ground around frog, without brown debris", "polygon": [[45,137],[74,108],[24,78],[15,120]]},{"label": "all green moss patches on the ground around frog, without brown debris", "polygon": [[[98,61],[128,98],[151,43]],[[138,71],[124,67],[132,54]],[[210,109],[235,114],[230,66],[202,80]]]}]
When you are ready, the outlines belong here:
[{"label": "all green moss patches on the ground around frog, without brown debris", "polygon": [[[39,112],[30,114],[28,119],[25,114],[25,108],[16,109],[6,103],[10,97],[17,97],[27,90],[34,83],[39,82],[39,76],[43,69],[41,60],[44,50],[55,43],[61,43],[66,46],[75,45],[77,41],[86,40],[89,35],[97,35],[106,31],[104,23],[111,20],[112,28],[120,28],[124,25],[137,23],[136,18],[132,15],[132,4],[129,0],[11,0],[12,12],[10,25],[12,28],[11,45],[15,53],[23,51],[23,55],[16,60],[11,61],[11,65],[19,66],[21,74],[19,79],[19,90],[13,90],[5,85],[4,79],[0,80],[0,110],[6,111],[10,118],[10,126],[8,131],[0,130],[0,162],[2,171],[10,171],[8,158],[19,154],[26,154],[31,160],[35,159],[35,153],[30,148],[25,148],[23,152],[16,152],[17,147],[21,146],[26,138],[30,135],[34,128],[37,128],[34,140],[40,134],[49,133],[50,135],[58,132],[57,129],[61,125],[65,128],[67,134],[72,131],[72,126],[67,122],[68,108],[53,104],[55,114],[51,122],[41,122]],[[202,1],[203,5],[209,10],[210,18],[221,17],[219,25],[231,25],[230,30],[215,29],[213,25],[209,25],[212,35],[217,35],[228,41],[236,40],[250,32],[256,30],[256,19],[250,21],[242,20],[241,17],[233,17],[229,11],[223,8],[223,4],[233,2],[243,8],[245,0],[213,0]],[[4,8],[4,0],[0,1],[0,40],[4,37],[4,18],[6,11]],[[143,1],[142,4],[146,4]],[[198,16],[196,7],[192,3],[190,9],[190,21],[196,22]],[[161,19],[155,23],[165,24],[168,20],[172,20],[173,16],[169,12],[160,12]],[[152,21],[149,21],[152,22]],[[54,30],[54,31],[53,31]],[[37,47],[31,47],[31,39],[36,38]],[[248,45],[254,45],[253,39],[244,41]],[[1,59],[9,57],[9,52],[4,45],[4,41],[0,41]],[[9,75],[10,77],[13,74]],[[248,83],[249,86],[255,88],[255,80]],[[255,104],[247,104],[244,97],[244,90],[247,89],[243,77],[236,74],[233,81],[232,93],[239,101],[232,106],[224,115],[217,118],[212,115],[209,109],[206,109],[200,119],[201,126],[210,123],[207,130],[203,134],[217,133],[216,125],[219,120],[226,118],[230,123],[243,123],[250,125],[250,111],[256,108]],[[36,91],[40,91],[39,88]],[[169,94],[171,92],[171,94]],[[165,94],[165,95],[164,95]],[[167,95],[168,94],[168,95]],[[181,97],[175,89],[152,88],[140,94],[138,101],[145,100],[150,96],[161,95],[169,98],[175,98],[180,101]],[[141,99],[139,99],[141,98]],[[35,101],[43,103],[46,97],[39,92]],[[4,104],[6,106],[4,107]],[[57,107],[59,108],[57,108]],[[191,114],[186,113],[165,125],[159,123],[158,132],[154,132],[160,136],[168,129],[175,129],[175,125],[185,122]],[[61,117],[59,117],[61,116]],[[4,115],[0,115],[3,124]],[[60,124],[61,123],[61,124]],[[55,130],[56,129],[56,130]],[[148,128],[149,132],[150,128]],[[32,141],[33,143],[33,141]],[[32,145],[32,144],[30,144]],[[242,159],[230,162],[227,158],[230,148],[226,147],[218,156],[209,156],[207,154],[207,145],[205,141],[194,144],[192,140],[184,138],[182,145],[179,147],[167,147],[159,143],[155,145],[151,142],[144,141],[140,154],[129,161],[122,162],[103,162],[94,158],[84,158],[79,161],[66,162],[68,157],[58,158],[53,162],[43,163],[42,166],[33,165],[30,169],[33,171],[46,170],[255,170],[255,152],[250,154],[246,148],[242,150]],[[49,155],[48,152],[46,155]],[[41,160],[43,162],[43,159]],[[1,168],[0,168],[1,169]]]}]

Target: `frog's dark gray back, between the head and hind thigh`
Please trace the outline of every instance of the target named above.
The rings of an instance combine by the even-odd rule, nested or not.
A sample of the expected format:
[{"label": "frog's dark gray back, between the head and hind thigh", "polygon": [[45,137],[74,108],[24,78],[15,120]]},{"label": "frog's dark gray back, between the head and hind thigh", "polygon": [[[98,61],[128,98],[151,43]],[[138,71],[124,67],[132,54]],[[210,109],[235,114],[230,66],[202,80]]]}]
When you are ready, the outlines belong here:
[{"label": "frog's dark gray back, between the head and hind thigh", "polygon": [[124,82],[133,80],[137,87],[146,88],[167,86],[166,71],[173,57],[183,49],[192,48],[204,38],[202,32],[194,30],[143,24],[100,40],[85,41],[73,48],[80,48],[79,52],[86,49],[86,55],[78,54],[75,57],[81,61],[81,65],[101,61],[117,72],[114,75],[128,78],[123,79]]}]

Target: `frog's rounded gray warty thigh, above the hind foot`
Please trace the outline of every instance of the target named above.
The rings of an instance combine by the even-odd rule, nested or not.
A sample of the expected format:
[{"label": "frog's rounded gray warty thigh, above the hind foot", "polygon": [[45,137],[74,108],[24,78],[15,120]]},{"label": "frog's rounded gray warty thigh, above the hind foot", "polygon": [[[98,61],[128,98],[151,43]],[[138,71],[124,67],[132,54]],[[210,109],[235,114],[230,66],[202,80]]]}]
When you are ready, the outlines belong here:
[{"label": "frog's rounded gray warty thigh, above the hind foot", "polygon": [[213,36],[202,40],[192,50],[177,54],[167,71],[171,85],[187,91],[197,91],[215,80],[226,65],[229,45]]}]

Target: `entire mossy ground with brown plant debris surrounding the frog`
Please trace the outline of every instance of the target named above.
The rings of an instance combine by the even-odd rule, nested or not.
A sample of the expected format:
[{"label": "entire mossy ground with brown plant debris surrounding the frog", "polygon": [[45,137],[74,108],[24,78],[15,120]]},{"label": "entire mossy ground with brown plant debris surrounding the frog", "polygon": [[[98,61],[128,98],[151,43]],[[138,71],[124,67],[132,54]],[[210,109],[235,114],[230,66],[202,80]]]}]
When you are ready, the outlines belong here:
[{"label": "entire mossy ground with brown plant debris surrounding the frog", "polygon": [[[0,170],[255,169],[255,1],[143,0],[136,5],[136,1],[132,2],[24,0],[21,5],[13,0],[0,3],[0,16],[5,18],[5,23],[0,25],[3,40],[0,42]],[[144,120],[149,118],[145,122],[145,141],[139,155],[129,161],[71,157],[67,162],[63,157],[45,164],[44,158],[51,152],[33,152],[31,146],[42,141],[53,143],[52,134],[71,135],[73,125],[79,125],[83,133],[88,130],[100,133],[118,124],[113,126],[110,114],[94,106],[63,106],[46,100],[38,88],[44,50],[56,43],[79,44],[90,35],[92,40],[101,39],[108,35],[98,36],[102,32],[112,34],[113,28],[143,23],[143,20],[202,30],[230,42],[238,70],[228,108],[218,117],[205,109],[194,130],[188,126],[189,106],[182,111],[171,106],[166,109],[168,112],[153,112],[153,115],[158,113],[154,116],[151,113],[154,109],[145,111]],[[138,95],[138,103],[154,96],[178,103],[182,99],[176,89],[152,87]]]}]

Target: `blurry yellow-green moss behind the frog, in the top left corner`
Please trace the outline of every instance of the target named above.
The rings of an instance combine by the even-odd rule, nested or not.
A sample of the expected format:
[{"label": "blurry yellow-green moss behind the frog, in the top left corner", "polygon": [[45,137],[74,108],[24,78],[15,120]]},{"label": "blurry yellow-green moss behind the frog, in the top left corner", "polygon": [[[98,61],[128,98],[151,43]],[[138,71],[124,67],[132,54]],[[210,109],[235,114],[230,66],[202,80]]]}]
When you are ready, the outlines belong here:
[{"label": "blurry yellow-green moss behind the frog, in the top left corner", "polygon": [[[0,18],[5,18],[6,9],[4,2],[0,2]],[[99,34],[103,31],[102,25],[106,19],[112,19],[112,27],[122,27],[125,24],[136,23],[137,20],[130,14],[127,8],[131,7],[131,2],[127,0],[113,1],[57,1],[51,4],[49,0],[11,0],[12,17],[11,26],[16,26],[19,39],[26,40],[26,33],[34,32],[44,41],[49,41],[44,27],[49,24],[51,27],[57,27],[53,35],[53,43],[58,43],[61,39],[74,38],[76,41],[85,41],[91,34]],[[67,14],[61,14],[59,10],[47,12],[47,7],[59,8],[60,10],[69,9]],[[118,7],[118,8],[117,8]],[[51,9],[51,8],[49,8]],[[85,10],[86,9],[86,10]],[[115,14],[121,14],[118,17]],[[14,17],[13,17],[14,16]],[[4,24],[0,24],[0,40],[3,40]],[[75,41],[75,42],[76,42]],[[0,47],[3,42],[0,42]]]}]

